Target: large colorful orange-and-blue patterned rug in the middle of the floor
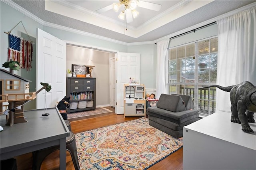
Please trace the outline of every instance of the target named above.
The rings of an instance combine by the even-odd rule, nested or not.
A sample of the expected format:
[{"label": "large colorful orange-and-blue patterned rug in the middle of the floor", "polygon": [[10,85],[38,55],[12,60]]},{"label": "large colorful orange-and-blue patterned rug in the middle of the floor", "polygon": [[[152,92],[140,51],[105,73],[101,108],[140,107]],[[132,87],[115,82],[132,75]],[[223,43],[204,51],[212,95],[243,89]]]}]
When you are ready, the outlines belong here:
[{"label": "large colorful orange-and-blue patterned rug in the middle of the floor", "polygon": [[145,170],[183,145],[183,138],[176,139],[148,125],[148,118],[75,135],[83,170]]}]

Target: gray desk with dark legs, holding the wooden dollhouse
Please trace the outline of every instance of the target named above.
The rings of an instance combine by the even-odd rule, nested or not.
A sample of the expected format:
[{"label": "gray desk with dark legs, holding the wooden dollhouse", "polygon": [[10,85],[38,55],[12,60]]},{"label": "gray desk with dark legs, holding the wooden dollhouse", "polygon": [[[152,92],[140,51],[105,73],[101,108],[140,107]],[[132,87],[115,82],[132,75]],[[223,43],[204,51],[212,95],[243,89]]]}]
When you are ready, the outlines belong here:
[{"label": "gray desk with dark legs, holding the wooden dollhouse", "polygon": [[70,135],[66,123],[57,108],[47,109],[48,117],[43,117],[44,109],[25,111],[28,122],[5,126],[6,119],[1,116],[0,158],[5,160],[40,150],[50,146],[60,145],[60,169],[66,169],[66,137]]}]

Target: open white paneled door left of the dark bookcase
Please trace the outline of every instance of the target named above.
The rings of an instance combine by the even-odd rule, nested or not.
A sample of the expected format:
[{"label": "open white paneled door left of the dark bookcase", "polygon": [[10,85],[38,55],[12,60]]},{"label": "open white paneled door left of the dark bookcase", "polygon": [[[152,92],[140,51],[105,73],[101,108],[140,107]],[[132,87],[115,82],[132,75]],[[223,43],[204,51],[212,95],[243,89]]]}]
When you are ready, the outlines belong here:
[{"label": "open white paneled door left of the dark bookcase", "polygon": [[50,92],[37,95],[36,109],[56,107],[66,95],[66,42],[37,29],[36,91],[42,83],[52,86]]}]

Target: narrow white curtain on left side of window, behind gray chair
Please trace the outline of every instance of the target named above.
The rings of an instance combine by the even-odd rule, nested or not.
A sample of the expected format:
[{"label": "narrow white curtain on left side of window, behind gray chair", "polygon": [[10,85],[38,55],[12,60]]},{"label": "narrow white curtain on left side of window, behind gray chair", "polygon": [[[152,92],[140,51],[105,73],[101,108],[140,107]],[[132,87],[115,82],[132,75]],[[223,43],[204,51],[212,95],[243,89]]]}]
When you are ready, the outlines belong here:
[{"label": "narrow white curtain on left side of window, behind gray chair", "polygon": [[169,38],[162,40],[157,45],[157,60],[156,60],[156,99],[159,99],[162,93],[166,94],[166,81],[168,76],[168,63],[166,62],[167,48]]}]

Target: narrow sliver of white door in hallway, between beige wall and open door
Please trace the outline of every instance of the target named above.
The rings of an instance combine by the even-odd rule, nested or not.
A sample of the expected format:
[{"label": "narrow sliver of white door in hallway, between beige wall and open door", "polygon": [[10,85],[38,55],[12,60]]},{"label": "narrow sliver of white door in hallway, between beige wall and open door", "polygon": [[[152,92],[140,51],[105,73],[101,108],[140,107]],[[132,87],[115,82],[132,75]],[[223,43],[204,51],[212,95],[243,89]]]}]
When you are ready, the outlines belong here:
[{"label": "narrow sliver of white door in hallway, between beige wall and open door", "polygon": [[116,107],[116,59],[110,58],[110,106]]}]

